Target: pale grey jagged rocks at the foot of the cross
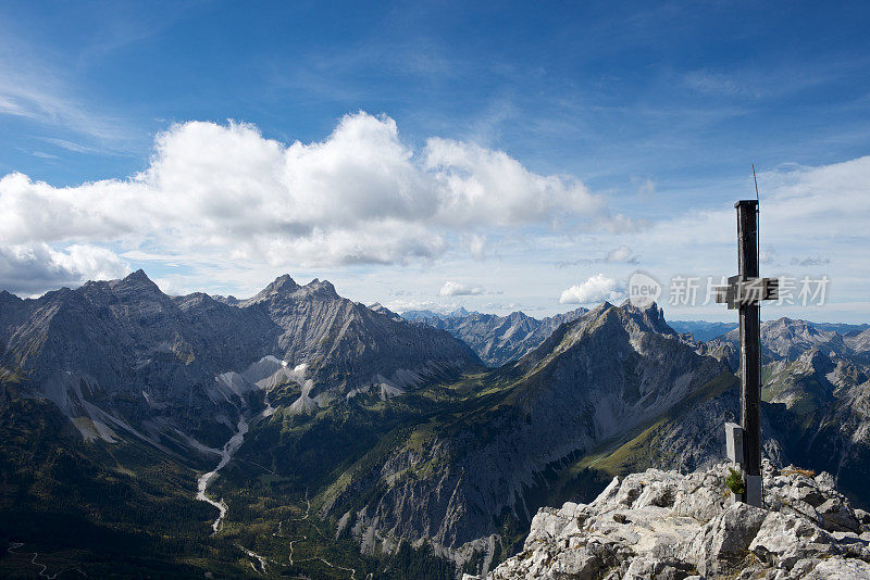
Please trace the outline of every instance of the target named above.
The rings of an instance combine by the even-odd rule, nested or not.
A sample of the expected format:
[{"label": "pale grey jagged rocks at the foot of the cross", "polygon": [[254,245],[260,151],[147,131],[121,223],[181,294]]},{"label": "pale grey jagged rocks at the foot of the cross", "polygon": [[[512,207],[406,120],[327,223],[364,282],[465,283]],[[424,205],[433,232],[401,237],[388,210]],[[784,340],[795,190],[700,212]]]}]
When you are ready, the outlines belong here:
[{"label": "pale grey jagged rocks at the foot of the cross", "polygon": [[870,514],[806,474],[766,462],[766,508],[732,503],[726,464],[614,478],[588,505],[539,509],[486,578],[870,578]]}]

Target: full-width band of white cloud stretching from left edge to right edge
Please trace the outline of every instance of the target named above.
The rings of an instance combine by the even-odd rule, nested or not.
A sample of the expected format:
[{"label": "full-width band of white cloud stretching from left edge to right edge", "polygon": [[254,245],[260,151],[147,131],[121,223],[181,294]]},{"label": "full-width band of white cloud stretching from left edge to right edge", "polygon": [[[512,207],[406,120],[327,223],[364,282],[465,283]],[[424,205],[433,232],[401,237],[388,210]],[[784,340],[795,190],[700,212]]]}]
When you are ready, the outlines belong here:
[{"label": "full-width band of white cloud stretching from left edge to right edge", "polygon": [[[506,175],[514,172],[525,186],[502,188],[499,167]],[[820,167],[782,166],[758,177],[761,248],[771,257],[762,274],[800,276],[807,268],[828,274],[832,301],[868,312],[862,273],[870,243],[870,156]],[[751,174],[744,185],[739,190],[754,197]],[[579,293],[591,300],[580,292],[580,282],[595,272],[581,269],[567,279],[571,270],[554,264],[601,269],[608,264],[608,275],[619,279],[627,274],[620,268],[639,250],[645,269],[663,283],[674,275],[733,274],[735,188],[730,182],[710,187],[710,196],[686,196],[687,205],[674,204],[669,217],[631,204],[630,215],[611,217],[606,209],[596,210],[598,198],[584,203],[582,185],[571,178],[536,175],[505,153],[467,143],[431,141],[415,150],[388,117],[350,115],[322,141],[290,144],[247,125],[187,123],[159,136],[148,167],[128,179],[55,188],[21,174],[2,177],[0,287],[29,293],[78,283],[82,270],[71,274],[49,254],[72,255],[70,247],[77,244],[112,248],[120,263],[144,266],[149,274],[148,262],[160,262],[156,274],[178,291],[250,295],[278,274],[302,272],[341,281],[340,290],[359,293],[366,303],[383,302],[385,287],[361,277],[376,269],[399,273],[402,288],[421,300],[435,299],[433,289],[455,280],[506,288],[506,302],[551,308],[560,293],[563,303],[580,300]],[[538,194],[549,200],[542,202],[549,214],[535,210]],[[502,202],[506,207],[497,207]],[[545,227],[561,214],[581,227]],[[641,215],[649,227],[634,220]],[[583,225],[586,219],[589,226]],[[614,232],[594,231],[599,223]],[[22,257],[21,248],[41,257]],[[473,260],[494,255],[498,260],[483,269]],[[575,256],[589,257],[563,262]],[[795,256],[799,263],[791,265]],[[801,265],[817,256],[830,263]],[[184,267],[167,270],[169,263]],[[335,267],[360,263],[407,266]],[[512,283],[515,279],[523,283]],[[577,290],[562,292],[574,282]],[[617,285],[613,291],[619,290]],[[457,302],[482,308],[489,293]],[[593,298],[611,300],[609,294]],[[681,316],[730,316],[719,305],[708,308]],[[834,312],[833,302],[825,308],[831,310],[796,315],[824,319]]]}]

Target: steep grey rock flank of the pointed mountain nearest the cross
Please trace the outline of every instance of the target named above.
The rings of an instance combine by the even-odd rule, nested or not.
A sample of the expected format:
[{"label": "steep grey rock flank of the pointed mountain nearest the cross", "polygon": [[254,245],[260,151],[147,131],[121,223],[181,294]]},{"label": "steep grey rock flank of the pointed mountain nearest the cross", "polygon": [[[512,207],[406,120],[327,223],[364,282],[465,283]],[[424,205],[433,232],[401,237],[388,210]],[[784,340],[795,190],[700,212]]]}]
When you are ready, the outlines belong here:
[{"label": "steep grey rock flank of the pointed mountain nearest the cross", "polygon": [[[425,445],[397,446],[372,462],[325,513],[337,518],[353,509],[366,551],[388,550],[397,539],[462,551],[498,533],[495,521],[506,510],[531,520],[540,504],[530,507],[526,490],[548,465],[587,453],[728,374],[681,342],[658,307],[607,303],[497,373],[513,383],[504,403],[475,412],[472,421],[427,431]],[[668,504],[670,492],[646,490],[643,501]],[[368,499],[364,516],[359,497]]]}]

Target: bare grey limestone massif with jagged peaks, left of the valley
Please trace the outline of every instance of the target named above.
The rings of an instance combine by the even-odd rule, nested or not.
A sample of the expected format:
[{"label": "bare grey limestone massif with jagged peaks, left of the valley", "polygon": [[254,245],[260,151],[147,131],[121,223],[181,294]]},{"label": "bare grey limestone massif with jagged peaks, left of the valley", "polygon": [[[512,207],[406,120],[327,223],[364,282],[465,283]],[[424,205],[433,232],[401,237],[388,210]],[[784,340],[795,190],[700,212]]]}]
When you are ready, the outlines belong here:
[{"label": "bare grey limestone massif with jagged peaks, left of the valley", "polygon": [[[37,300],[0,297],[2,365],[39,387],[59,370],[103,390],[187,400],[191,386],[266,355],[306,364],[319,388],[387,383],[480,365],[447,332],[407,324],[344,299],[328,281],[282,276],[256,297],[169,297],[144,272],[63,288]],[[324,384],[324,387],[321,387]]]}]

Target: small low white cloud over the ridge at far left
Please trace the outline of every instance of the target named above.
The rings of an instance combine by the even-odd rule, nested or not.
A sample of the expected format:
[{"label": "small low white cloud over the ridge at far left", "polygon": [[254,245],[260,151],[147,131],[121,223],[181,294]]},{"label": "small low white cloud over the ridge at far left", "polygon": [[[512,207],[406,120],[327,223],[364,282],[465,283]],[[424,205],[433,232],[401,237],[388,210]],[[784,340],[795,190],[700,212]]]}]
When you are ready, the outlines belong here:
[{"label": "small low white cloud over the ridge at far left", "polygon": [[76,287],[86,280],[120,278],[130,272],[114,253],[94,245],[57,251],[45,243],[0,245],[3,290],[33,294],[46,288]]}]

